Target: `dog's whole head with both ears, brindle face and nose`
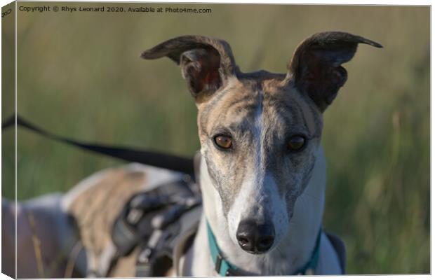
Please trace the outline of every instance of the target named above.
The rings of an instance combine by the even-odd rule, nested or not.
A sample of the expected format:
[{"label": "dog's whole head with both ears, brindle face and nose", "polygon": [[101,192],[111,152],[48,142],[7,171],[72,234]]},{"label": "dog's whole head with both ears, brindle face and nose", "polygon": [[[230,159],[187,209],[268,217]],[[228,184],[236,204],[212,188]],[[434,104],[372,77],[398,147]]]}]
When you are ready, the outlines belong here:
[{"label": "dog's whole head with both ears, brindle face and nose", "polygon": [[181,36],[145,51],[169,57],[199,109],[201,153],[220,195],[229,235],[248,253],[265,253],[288,232],[297,197],[311,177],[322,113],[347,79],[341,66],[361,36],[323,32],[303,41],[286,74],[241,73],[225,41]]}]

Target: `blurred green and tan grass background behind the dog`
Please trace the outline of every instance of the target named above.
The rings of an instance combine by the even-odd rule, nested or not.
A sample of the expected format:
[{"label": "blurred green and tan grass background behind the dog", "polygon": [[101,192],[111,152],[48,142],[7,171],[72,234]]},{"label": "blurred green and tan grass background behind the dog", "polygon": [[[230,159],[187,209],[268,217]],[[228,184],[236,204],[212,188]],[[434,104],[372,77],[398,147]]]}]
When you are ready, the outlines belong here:
[{"label": "blurred green and tan grass background behind the dog", "polygon": [[[59,6],[79,5],[95,6]],[[199,149],[196,108],[180,69],[169,59],[140,59],[143,50],[182,34],[215,36],[232,45],[242,71],[285,72],[297,44],[315,32],[366,36],[384,49],[359,47],[345,66],[346,85],[324,116],[324,227],[346,242],[349,274],[430,272],[429,7],[104,6],[129,5],[213,13],[19,12],[21,116],[75,139],[192,156]],[[3,174],[12,185],[8,143]],[[123,162],[18,130],[19,200],[65,192],[117,165]],[[13,197],[13,189],[4,186],[3,195]]]}]

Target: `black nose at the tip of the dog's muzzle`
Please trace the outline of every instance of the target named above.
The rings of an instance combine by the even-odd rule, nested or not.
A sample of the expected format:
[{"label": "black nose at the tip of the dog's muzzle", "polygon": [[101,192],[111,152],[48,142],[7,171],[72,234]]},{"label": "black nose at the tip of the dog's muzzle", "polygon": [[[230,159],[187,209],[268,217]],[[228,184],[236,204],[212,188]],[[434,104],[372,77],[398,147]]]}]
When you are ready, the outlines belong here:
[{"label": "black nose at the tip of the dog's muzzle", "polygon": [[253,220],[243,220],[239,223],[236,237],[246,252],[265,253],[274,244],[275,230],[271,223],[259,225]]}]

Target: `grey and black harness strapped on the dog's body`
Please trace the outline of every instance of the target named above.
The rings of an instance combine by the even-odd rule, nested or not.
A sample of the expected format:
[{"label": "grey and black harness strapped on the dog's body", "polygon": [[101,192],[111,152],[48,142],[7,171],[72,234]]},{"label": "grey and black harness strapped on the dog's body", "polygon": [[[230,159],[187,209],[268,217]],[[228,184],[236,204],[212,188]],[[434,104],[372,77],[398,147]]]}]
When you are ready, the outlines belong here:
[{"label": "grey and black harness strapped on the dog's body", "polygon": [[116,218],[114,248],[103,252],[105,269],[98,276],[109,276],[116,261],[135,249],[136,277],[165,276],[192,244],[201,213],[201,193],[189,177],[133,195]]}]

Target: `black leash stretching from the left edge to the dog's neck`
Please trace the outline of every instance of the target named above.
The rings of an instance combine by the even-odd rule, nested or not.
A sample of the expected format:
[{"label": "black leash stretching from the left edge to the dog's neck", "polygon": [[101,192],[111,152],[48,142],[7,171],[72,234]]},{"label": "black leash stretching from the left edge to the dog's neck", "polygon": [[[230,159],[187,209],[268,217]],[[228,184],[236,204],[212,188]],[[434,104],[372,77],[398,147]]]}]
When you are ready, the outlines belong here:
[{"label": "black leash stretching from the left edge to the dog's neck", "polygon": [[[7,118],[4,123],[1,124],[1,130],[7,130],[15,125],[15,116]],[[131,148],[123,148],[119,146],[105,146],[99,144],[85,143],[81,141],[74,141],[66,137],[60,137],[46,132],[36,125],[32,125],[24,118],[17,115],[17,125],[25,127],[27,130],[32,130],[37,134],[40,134],[49,139],[59,141],[65,144],[82,148],[86,151],[92,151],[94,153],[100,153],[102,155],[108,155],[112,158],[118,158],[129,162],[139,162],[145,165],[152,165],[154,167],[161,167],[187,174],[194,174],[194,160],[192,158],[183,158],[177,155],[168,155],[165,153],[141,151]]]}]

